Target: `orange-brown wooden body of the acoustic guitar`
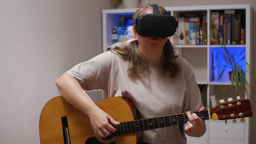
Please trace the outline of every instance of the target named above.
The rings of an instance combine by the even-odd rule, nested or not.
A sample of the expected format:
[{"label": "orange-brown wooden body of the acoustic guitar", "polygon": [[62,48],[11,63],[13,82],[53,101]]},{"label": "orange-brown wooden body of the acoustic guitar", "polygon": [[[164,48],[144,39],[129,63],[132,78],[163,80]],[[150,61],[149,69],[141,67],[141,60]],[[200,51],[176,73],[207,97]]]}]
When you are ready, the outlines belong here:
[{"label": "orange-brown wooden body of the acoustic guitar", "polygon": [[[138,110],[126,98],[111,97],[96,105],[116,121],[138,119]],[[62,117],[66,117],[66,122]],[[98,140],[89,117],[61,96],[51,99],[44,106],[39,120],[39,134],[41,144],[137,144],[136,133]]]}]

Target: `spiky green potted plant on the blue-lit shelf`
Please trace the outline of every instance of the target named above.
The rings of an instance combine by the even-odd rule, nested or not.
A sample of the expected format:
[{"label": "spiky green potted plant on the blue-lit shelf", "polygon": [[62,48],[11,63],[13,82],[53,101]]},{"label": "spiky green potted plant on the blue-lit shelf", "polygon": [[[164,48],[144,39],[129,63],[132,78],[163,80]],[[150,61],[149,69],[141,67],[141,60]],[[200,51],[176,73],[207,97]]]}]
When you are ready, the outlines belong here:
[{"label": "spiky green potted plant on the blue-lit shelf", "polygon": [[[246,97],[249,98],[249,82],[246,79],[246,72],[249,72],[253,76],[253,80],[256,81],[254,77],[255,71],[251,69],[251,66],[246,62],[246,57],[243,55],[245,49],[238,54],[231,53],[225,45],[222,46],[223,52],[218,52],[216,57],[220,56],[224,60],[224,64],[214,66],[214,69],[221,67],[220,75],[218,81],[222,78],[224,72],[230,70],[228,73],[230,75],[230,82],[236,86],[236,93],[241,94],[240,90],[243,88]],[[246,65],[249,69],[246,70]],[[249,71],[251,70],[251,72]]]}]

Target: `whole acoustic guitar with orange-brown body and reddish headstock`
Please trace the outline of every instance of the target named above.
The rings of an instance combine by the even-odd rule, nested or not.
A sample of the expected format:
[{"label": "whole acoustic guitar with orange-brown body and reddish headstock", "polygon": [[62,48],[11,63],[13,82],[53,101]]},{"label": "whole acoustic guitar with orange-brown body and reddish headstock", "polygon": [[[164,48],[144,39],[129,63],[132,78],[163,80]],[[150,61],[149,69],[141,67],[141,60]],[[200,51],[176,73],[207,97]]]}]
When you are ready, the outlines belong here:
[{"label": "whole acoustic guitar with orange-brown body and reddish headstock", "polygon": [[[138,119],[138,110],[126,98],[111,97],[96,103],[120,125],[106,138],[96,137],[90,119],[82,111],[69,104],[61,96],[48,101],[39,121],[41,144],[137,144],[137,133],[156,128],[185,124],[186,113],[155,118]],[[215,108],[193,111],[202,120],[228,120],[251,117],[249,99],[217,105]]]}]

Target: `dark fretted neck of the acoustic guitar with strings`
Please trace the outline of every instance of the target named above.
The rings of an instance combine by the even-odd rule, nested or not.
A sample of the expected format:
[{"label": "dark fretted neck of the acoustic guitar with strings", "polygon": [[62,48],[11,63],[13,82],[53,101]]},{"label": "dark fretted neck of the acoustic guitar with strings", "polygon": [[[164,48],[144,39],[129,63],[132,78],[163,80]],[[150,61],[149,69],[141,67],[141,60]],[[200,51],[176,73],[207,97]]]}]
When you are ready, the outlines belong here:
[{"label": "dark fretted neck of the acoustic guitar with strings", "polygon": [[[193,113],[197,114],[202,120],[210,119],[208,110],[194,111]],[[119,125],[113,125],[113,127],[116,129],[116,132],[113,135],[117,136],[139,131],[148,131],[157,128],[186,124],[187,121],[189,121],[189,119],[186,113],[155,118],[145,118],[134,121],[124,121],[120,122]]]}]

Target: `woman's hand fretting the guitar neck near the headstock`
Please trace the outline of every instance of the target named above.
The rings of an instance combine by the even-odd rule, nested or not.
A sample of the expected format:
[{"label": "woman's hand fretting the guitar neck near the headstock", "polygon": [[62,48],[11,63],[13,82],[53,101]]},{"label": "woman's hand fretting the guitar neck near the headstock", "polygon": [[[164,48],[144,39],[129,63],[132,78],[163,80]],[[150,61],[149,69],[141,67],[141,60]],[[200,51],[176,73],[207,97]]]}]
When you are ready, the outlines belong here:
[{"label": "woman's hand fretting the guitar neck near the headstock", "polygon": [[[205,108],[202,107],[199,111],[203,111]],[[184,132],[192,137],[201,137],[206,131],[205,122],[197,116],[197,114],[187,111],[187,117],[189,121],[187,124],[184,124],[183,129]]]}]

